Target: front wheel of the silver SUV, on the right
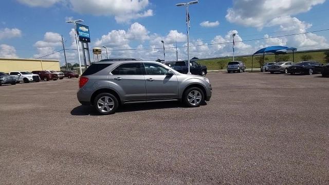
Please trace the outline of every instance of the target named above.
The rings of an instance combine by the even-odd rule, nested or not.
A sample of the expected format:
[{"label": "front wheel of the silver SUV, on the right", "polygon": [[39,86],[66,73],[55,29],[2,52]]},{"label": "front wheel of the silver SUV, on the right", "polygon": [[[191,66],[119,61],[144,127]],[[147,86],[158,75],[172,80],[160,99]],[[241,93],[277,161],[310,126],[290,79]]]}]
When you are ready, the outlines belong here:
[{"label": "front wheel of the silver SUV, on the right", "polygon": [[[190,95],[193,95],[194,97],[191,97]],[[199,98],[199,96],[201,96],[201,97]],[[205,95],[204,95],[204,92],[200,88],[191,87],[191,88],[185,90],[182,99],[186,106],[198,107],[198,106],[200,106],[201,103],[203,103],[205,101]],[[192,100],[192,101],[190,102],[189,100]]]}]

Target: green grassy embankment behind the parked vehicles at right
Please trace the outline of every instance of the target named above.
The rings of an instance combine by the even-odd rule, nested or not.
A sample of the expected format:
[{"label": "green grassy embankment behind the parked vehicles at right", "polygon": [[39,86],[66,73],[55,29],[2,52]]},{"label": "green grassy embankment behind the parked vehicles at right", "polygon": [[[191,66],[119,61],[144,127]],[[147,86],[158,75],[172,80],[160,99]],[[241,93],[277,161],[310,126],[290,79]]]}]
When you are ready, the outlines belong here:
[{"label": "green grassy embankment behind the parked vehicles at right", "polygon": [[[324,57],[325,57],[325,54],[324,54],[324,51],[314,51],[314,52],[298,52],[298,53],[295,53],[295,63],[296,62],[299,62],[301,61],[301,56],[302,55],[305,55],[305,54],[309,54],[312,56],[312,59],[310,60],[314,60],[314,61],[319,61],[319,62],[322,62],[322,63],[325,63],[325,60],[324,60]],[[289,60],[288,61],[293,61],[293,53],[287,53],[287,54],[280,54],[280,55],[285,55],[285,56],[289,56]],[[278,57],[280,57],[280,55],[278,55]],[[263,55],[261,55],[262,57]],[[272,55],[265,55],[265,57],[268,59],[268,60],[265,60],[265,62],[273,62],[275,61],[275,55],[272,54]],[[243,57],[243,58],[240,58],[240,57],[237,57],[237,58],[234,58],[235,61],[243,61],[245,64],[246,64],[246,67],[247,68],[251,68],[251,60],[252,60],[252,57]],[[220,67],[220,64],[219,63],[224,63],[224,68],[223,69],[226,69],[226,66],[227,66],[227,63],[232,61],[232,58],[228,58],[228,59],[212,59],[212,60],[198,60],[197,62],[201,65],[205,65],[208,67],[208,70],[216,70],[216,69],[221,69]],[[253,58],[253,68],[258,68],[260,67],[260,64],[257,60],[255,60],[255,57]]]}]

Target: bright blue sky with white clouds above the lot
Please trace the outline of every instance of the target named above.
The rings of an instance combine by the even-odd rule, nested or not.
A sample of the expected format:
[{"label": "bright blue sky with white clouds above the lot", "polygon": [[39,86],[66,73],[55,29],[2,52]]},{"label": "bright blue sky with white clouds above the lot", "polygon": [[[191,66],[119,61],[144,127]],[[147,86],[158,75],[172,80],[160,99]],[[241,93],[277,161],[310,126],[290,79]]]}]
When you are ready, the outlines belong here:
[{"label": "bright blue sky with white clouds above the lot", "polygon": [[[72,49],[67,50],[68,61],[77,63],[73,25],[65,21],[82,19],[90,28],[90,48],[105,45],[113,58],[162,59],[160,41],[164,40],[166,57],[174,60],[177,35],[178,58],[186,59],[185,9],[176,7],[176,3],[181,1],[4,1],[0,11],[0,58],[42,57],[62,49],[63,35],[66,48]],[[243,41],[235,44],[237,55],[251,54],[269,45],[298,50],[328,48],[329,31],[299,34],[329,29],[328,8],[325,0],[200,0],[190,6],[191,57],[232,55],[232,45],[222,44],[232,42],[232,33],[237,33],[235,41]],[[295,35],[275,38],[289,34]],[[63,52],[43,59],[64,63]]]}]

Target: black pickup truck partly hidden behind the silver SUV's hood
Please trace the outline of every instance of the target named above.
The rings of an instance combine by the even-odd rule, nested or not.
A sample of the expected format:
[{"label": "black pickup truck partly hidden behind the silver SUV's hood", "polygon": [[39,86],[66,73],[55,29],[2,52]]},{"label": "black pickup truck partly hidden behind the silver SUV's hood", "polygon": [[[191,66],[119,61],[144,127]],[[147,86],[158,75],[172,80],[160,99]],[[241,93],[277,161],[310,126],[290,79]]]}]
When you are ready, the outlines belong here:
[{"label": "black pickup truck partly hidden behind the silver SUV's hood", "polygon": [[[195,61],[190,61],[190,72],[193,75],[207,75],[207,66],[200,65]],[[171,66],[173,69],[180,73],[187,73],[188,72],[188,61],[177,61],[174,66]]]}]

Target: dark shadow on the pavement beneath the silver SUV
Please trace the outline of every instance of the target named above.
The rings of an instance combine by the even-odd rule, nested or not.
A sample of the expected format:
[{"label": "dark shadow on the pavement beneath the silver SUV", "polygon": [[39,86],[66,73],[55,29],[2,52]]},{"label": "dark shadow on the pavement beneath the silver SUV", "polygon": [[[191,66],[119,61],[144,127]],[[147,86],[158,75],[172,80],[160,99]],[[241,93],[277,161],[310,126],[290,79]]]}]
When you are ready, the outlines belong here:
[{"label": "dark shadow on the pavement beneath the silver SUV", "polygon": [[[203,103],[203,105],[207,105],[207,103]],[[117,113],[125,113],[125,112],[135,112],[141,110],[153,110],[153,109],[166,109],[166,108],[185,108],[184,104],[179,101],[166,101],[166,102],[149,102],[149,103],[131,103],[121,105]],[[97,111],[93,106],[80,105],[71,110],[71,115],[74,116],[99,116]]]}]

